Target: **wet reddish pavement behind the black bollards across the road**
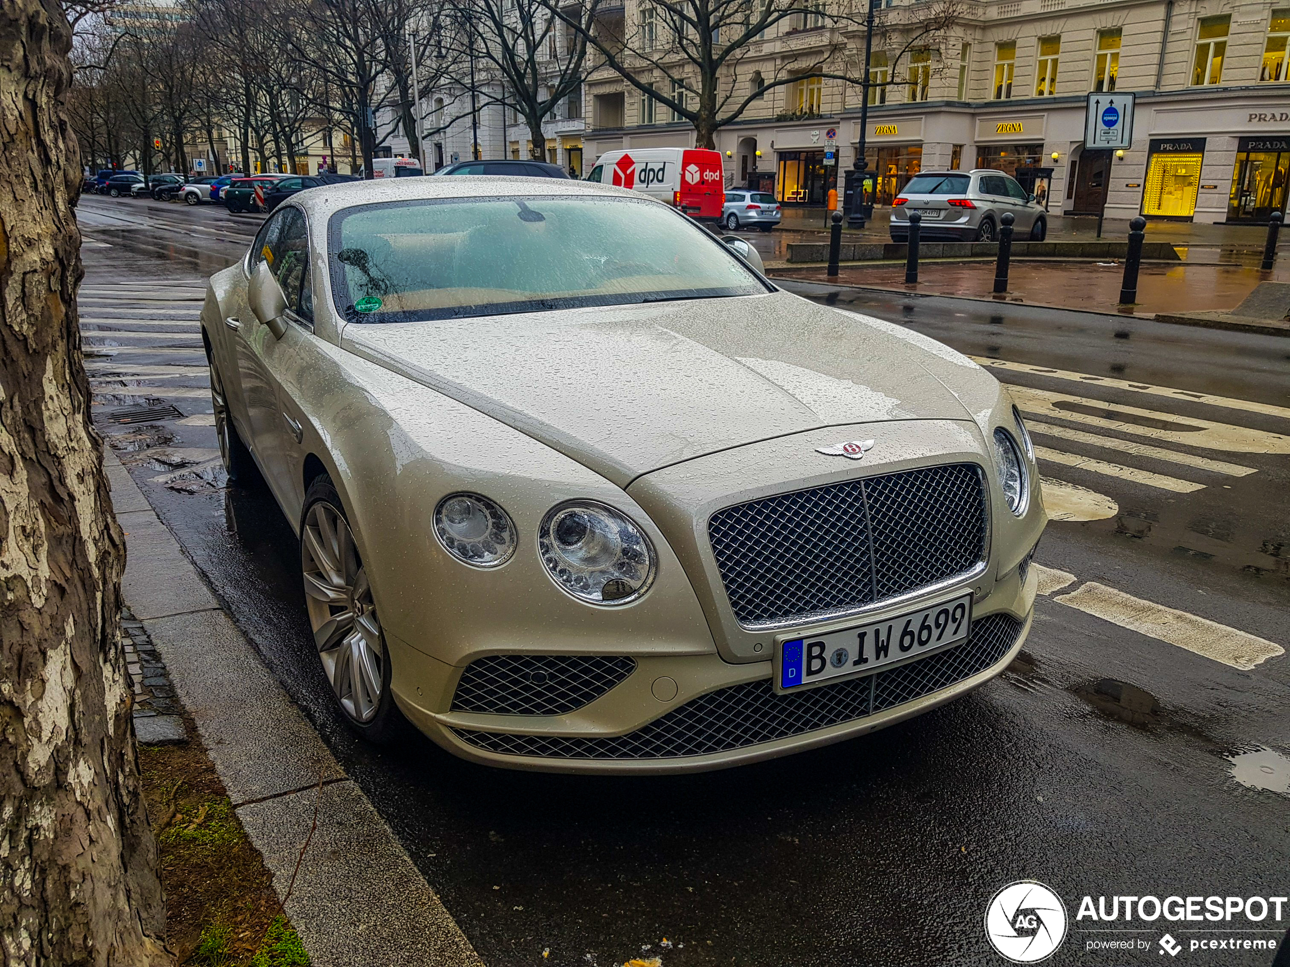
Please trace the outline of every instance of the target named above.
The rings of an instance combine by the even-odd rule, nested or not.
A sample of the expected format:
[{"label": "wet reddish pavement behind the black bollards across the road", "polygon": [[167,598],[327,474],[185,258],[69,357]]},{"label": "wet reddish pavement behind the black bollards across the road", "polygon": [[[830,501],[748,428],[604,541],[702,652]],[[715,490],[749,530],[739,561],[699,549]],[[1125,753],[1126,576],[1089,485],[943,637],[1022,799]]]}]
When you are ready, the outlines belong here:
[{"label": "wet reddish pavement behind the black bollards across the road", "polygon": [[1131,315],[1227,312],[1260,281],[1290,281],[1290,260],[1278,263],[1272,272],[1247,266],[1144,262],[1138,276],[1138,302],[1130,309],[1118,306],[1124,280],[1118,262],[1013,262],[1005,295],[992,293],[993,259],[922,262],[916,285],[906,285],[904,266],[891,263],[842,266],[836,278],[827,276],[824,266],[780,264],[768,266],[766,271],[775,278]]}]

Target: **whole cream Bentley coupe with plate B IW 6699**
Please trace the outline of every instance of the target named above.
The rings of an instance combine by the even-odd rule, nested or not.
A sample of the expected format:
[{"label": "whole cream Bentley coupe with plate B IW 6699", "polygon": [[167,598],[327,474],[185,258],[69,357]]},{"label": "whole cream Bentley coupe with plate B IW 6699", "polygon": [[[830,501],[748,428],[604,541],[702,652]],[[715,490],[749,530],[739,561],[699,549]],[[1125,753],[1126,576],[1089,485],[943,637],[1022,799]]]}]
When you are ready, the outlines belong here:
[{"label": "whole cream Bentley coupe with plate B IW 6699", "polygon": [[703,770],[1007,665],[1046,521],[1007,395],[760,267],[639,193],[462,177],[301,192],[210,280],[224,464],[299,532],[355,730]]}]

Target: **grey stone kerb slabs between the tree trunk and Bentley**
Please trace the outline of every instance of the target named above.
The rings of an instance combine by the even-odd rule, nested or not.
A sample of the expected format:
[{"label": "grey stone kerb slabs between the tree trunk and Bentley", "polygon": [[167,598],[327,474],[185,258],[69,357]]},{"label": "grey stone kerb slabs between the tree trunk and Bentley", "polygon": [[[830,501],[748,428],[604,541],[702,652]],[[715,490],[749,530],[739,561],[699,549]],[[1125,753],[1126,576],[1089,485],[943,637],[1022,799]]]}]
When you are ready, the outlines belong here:
[{"label": "grey stone kerb slabs between the tree trunk and Bentley", "polygon": [[[148,656],[152,696],[166,698],[156,689],[166,689],[168,673],[280,897],[308,839],[286,915],[315,967],[482,967],[390,826],[106,446],[103,463],[126,532],[125,630],[135,654]],[[137,664],[138,690],[146,678],[144,663]],[[135,719],[141,737],[146,721]]]}]

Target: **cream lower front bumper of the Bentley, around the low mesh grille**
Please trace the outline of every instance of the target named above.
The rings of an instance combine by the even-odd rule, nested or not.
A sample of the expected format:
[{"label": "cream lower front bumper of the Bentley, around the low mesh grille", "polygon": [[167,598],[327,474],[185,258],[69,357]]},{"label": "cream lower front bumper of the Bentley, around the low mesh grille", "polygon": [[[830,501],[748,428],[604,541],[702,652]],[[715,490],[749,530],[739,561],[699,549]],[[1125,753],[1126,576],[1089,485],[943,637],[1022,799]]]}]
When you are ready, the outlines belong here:
[{"label": "cream lower front bumper of the Bentley, around the low mesh grille", "polygon": [[1017,569],[975,605],[968,641],[864,677],[777,695],[771,663],[655,655],[590,704],[557,716],[448,708],[463,672],[391,641],[395,698],[435,743],[466,759],[552,772],[728,768],[827,745],[912,718],[1002,672],[1029,632],[1036,572]]}]

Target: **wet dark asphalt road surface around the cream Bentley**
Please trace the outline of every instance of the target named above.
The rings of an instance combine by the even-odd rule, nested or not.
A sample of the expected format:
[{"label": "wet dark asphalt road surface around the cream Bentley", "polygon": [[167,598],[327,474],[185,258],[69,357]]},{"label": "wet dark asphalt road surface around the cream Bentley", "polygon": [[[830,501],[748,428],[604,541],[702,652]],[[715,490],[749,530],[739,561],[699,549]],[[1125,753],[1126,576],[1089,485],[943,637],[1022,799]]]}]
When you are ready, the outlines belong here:
[{"label": "wet dark asphalt road surface around the cream Bentley", "polygon": [[[85,199],[80,211],[85,285],[138,281],[157,293],[166,280],[195,280],[240,257],[258,224],[151,201]],[[1237,629],[1290,646],[1290,453],[1179,442],[1211,424],[1290,435],[1290,419],[1272,409],[1290,406],[1290,339],[860,290],[815,298],[973,356],[1055,371],[998,371],[1062,396],[1059,411],[1044,416],[1054,432],[1115,438],[1096,420],[1136,410],[1155,414],[1135,416],[1140,425],[1174,435],[1162,446],[1238,465],[1182,465],[1069,432],[1037,435],[1058,454],[1041,462],[1051,493],[1104,508],[1099,520],[1051,523],[1038,560],[1209,619],[1215,637]],[[104,411],[139,401],[114,389],[142,386],[186,415],[209,413],[200,395],[166,396],[205,387],[197,370],[154,379],[144,369],[200,366],[191,326],[160,321],[164,308],[117,313],[99,304],[83,300],[83,320],[121,320],[84,324],[88,356],[103,364],[92,375]],[[112,335],[126,330],[152,335]],[[374,752],[332,712],[295,539],[267,491],[223,487],[209,471],[154,480],[182,468],[184,450],[209,453],[208,425],[104,432],[489,964],[604,967],[655,955],[667,967],[997,964],[982,917],[996,890],[1023,878],[1053,887],[1072,915],[1051,963],[1160,963],[1166,927],[1186,943],[1178,927],[1213,924],[1139,922],[1143,932],[1121,936],[1149,941],[1142,953],[1085,953],[1089,939],[1107,936],[1087,931],[1124,924],[1075,922],[1080,897],[1290,892],[1290,794],[1236,781],[1228,759],[1256,747],[1290,756],[1287,655],[1240,670],[1041,597],[1023,658],[998,679],[904,725],[788,759],[627,780],[486,770],[428,741]],[[1098,463],[1071,465],[1072,455]],[[1162,481],[1201,486],[1170,490]],[[1107,683],[1098,691],[1103,679],[1142,692]],[[1117,703],[1117,691],[1138,704]],[[1222,954],[1226,963],[1271,959]]]}]

